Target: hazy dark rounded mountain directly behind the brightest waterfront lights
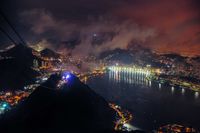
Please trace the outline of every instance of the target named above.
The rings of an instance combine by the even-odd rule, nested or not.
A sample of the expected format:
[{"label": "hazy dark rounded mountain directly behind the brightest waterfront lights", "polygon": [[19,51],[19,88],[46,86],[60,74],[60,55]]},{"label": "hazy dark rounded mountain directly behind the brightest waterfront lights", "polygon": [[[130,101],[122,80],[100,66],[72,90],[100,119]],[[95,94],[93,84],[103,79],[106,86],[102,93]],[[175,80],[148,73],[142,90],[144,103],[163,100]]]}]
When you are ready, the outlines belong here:
[{"label": "hazy dark rounded mountain directly behind the brightest waterfront lights", "polygon": [[151,64],[152,66],[161,66],[156,60],[157,56],[151,50],[138,46],[131,45],[128,49],[114,49],[107,50],[99,55],[99,59],[106,61],[119,61],[124,64],[138,64],[140,66],[146,66]]}]

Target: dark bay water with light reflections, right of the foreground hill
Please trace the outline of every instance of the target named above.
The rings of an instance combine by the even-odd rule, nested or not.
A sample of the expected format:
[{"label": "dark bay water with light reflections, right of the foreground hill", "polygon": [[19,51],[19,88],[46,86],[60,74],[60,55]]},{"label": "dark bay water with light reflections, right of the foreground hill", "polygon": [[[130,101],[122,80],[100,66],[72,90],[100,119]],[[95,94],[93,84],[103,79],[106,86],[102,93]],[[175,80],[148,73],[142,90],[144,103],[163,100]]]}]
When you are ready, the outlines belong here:
[{"label": "dark bay water with light reflections, right of the foreground hill", "polygon": [[109,71],[87,84],[133,114],[132,125],[153,130],[166,124],[200,129],[200,96],[180,87],[147,81],[145,75]]}]

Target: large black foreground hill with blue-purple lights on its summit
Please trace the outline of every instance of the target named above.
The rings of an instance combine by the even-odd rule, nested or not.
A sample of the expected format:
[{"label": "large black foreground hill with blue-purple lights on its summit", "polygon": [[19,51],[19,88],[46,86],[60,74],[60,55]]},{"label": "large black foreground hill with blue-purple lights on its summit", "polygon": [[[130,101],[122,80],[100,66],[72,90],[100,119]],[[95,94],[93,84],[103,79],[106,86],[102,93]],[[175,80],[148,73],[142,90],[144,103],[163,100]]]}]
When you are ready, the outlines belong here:
[{"label": "large black foreground hill with blue-purple lights on its summit", "polygon": [[[25,101],[0,119],[6,133],[114,133],[115,112],[108,103],[73,75],[56,89],[52,75]],[[139,132],[139,131],[138,131]]]}]

